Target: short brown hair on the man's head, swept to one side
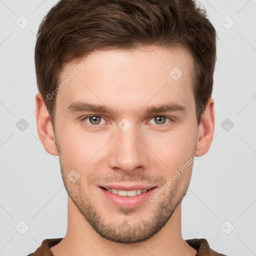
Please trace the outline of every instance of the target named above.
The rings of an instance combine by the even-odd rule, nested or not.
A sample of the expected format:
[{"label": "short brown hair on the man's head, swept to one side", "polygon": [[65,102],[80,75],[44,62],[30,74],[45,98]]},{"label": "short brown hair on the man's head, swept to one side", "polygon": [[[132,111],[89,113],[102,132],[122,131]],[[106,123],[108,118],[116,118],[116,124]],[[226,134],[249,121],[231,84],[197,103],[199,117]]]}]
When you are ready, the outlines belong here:
[{"label": "short brown hair on the man's head, swept to one side", "polygon": [[194,0],[60,0],[40,23],[35,44],[39,92],[54,128],[55,98],[65,63],[93,49],[185,47],[192,56],[196,121],[211,97],[216,31]]}]

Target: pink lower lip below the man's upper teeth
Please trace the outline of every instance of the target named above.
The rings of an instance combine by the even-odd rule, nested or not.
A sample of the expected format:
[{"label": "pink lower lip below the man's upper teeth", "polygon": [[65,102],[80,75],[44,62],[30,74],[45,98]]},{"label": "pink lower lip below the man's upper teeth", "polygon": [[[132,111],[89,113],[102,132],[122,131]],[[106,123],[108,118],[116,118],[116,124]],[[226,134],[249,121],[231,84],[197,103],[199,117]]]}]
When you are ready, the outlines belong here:
[{"label": "pink lower lip below the man's upper teeth", "polygon": [[102,187],[99,187],[99,189],[102,191],[104,196],[106,196],[106,198],[116,206],[123,207],[123,208],[133,208],[140,205],[144,201],[146,201],[148,197],[154,193],[154,191],[156,190],[156,186],[144,193],[137,194],[134,196],[124,196],[124,195],[114,194],[112,192],[108,192]]}]

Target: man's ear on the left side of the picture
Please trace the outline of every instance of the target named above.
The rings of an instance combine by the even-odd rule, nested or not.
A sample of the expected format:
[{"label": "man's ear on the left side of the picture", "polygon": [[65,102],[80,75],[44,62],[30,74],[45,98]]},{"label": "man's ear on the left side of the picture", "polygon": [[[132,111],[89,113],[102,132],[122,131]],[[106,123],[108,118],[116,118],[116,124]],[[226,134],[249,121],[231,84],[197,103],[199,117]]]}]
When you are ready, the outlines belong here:
[{"label": "man's ear on the left side of the picture", "polygon": [[44,104],[42,94],[39,92],[35,95],[35,109],[37,132],[44,149],[49,154],[58,155],[50,116]]}]

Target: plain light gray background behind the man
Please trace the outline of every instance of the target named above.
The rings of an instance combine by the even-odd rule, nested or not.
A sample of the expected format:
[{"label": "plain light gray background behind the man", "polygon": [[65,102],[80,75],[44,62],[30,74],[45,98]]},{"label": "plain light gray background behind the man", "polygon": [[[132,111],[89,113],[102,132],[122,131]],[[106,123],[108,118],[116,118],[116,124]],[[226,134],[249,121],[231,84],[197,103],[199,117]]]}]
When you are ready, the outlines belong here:
[{"label": "plain light gray background behind the man", "polygon": [[[58,157],[44,150],[34,114],[35,34],[54,3],[0,0],[0,255],[27,255],[66,231]],[[182,235],[223,254],[256,255],[256,1],[201,3],[219,37],[215,132],[194,162]]]}]

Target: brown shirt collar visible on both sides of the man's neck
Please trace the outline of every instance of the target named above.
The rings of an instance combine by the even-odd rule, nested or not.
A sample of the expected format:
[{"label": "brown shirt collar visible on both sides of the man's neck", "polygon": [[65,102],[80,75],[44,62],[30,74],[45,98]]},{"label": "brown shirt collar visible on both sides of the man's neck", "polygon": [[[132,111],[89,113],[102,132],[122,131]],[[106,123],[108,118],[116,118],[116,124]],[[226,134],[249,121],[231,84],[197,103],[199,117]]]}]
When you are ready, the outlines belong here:
[{"label": "brown shirt collar visible on both sides of the man's neck", "polygon": [[[53,256],[50,247],[56,245],[62,240],[62,238],[44,239],[41,245],[36,249],[35,252],[28,254],[27,256]],[[192,248],[197,250],[195,256],[226,256],[221,253],[217,253],[209,247],[206,239],[188,239],[185,240]]]}]

